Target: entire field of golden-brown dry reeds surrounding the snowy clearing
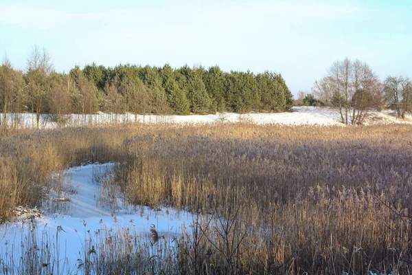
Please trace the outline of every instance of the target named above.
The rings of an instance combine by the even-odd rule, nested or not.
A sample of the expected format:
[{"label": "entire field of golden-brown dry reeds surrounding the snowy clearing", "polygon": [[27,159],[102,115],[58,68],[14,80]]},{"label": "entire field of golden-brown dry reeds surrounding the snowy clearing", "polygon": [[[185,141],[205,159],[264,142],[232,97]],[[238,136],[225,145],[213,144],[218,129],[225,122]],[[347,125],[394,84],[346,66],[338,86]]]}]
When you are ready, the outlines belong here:
[{"label": "entire field of golden-brown dry reeds surrounding the snowy clearing", "polygon": [[176,273],[407,274],[411,140],[410,126],[18,131],[0,138],[0,213],[40,203],[55,170],[116,161],[130,203],[208,213],[176,238]]}]

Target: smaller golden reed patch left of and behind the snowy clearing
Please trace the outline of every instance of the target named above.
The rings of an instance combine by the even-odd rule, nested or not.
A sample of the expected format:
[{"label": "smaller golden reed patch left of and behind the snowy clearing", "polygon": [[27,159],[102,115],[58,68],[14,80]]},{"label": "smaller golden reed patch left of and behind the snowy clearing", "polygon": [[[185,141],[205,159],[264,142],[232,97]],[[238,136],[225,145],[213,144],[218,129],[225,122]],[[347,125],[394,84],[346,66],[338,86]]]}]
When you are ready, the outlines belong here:
[{"label": "smaller golden reed patch left of and behind the snowy clearing", "polygon": [[120,145],[135,130],[67,128],[20,130],[0,136],[0,221],[15,206],[39,206],[54,186],[52,173],[84,162],[124,157]]}]

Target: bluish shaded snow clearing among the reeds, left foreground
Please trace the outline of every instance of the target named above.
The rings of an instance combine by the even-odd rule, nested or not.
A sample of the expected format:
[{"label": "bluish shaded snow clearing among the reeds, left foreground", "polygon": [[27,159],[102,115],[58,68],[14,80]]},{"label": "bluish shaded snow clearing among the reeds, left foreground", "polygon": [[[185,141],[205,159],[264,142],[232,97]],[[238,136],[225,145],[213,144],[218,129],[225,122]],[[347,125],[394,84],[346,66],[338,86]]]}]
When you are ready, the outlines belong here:
[{"label": "bluish shaded snow clearing among the reeds, left foreground", "polygon": [[[55,272],[60,263],[56,274],[72,274],[78,272],[79,259],[87,257],[93,246],[100,248],[111,236],[128,232],[150,243],[150,228],[155,228],[165,236],[162,241],[171,244],[172,236],[193,223],[192,214],[172,208],[123,207],[121,201],[115,210],[108,208],[100,184],[104,177],[110,177],[112,166],[113,163],[89,164],[66,170],[61,175],[67,188],[50,198],[55,203],[65,203],[60,213],[45,210],[40,218],[0,225],[0,274],[5,268],[12,274],[23,274],[19,261],[31,253],[30,246],[43,255],[46,263],[41,264],[54,265]],[[103,179],[99,184],[93,180],[96,176]],[[52,252],[49,256],[43,252],[46,245]]]}]

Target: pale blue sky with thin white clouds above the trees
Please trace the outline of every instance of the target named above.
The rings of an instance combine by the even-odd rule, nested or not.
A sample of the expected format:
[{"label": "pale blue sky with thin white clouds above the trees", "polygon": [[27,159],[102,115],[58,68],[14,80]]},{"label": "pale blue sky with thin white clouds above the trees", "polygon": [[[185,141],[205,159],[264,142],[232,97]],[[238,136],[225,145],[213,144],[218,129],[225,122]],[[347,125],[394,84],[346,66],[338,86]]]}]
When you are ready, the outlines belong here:
[{"label": "pale blue sky with thin white clouds above the trees", "polygon": [[296,95],[345,57],[381,79],[412,78],[411,26],[411,0],[0,0],[0,54],[23,70],[34,45],[58,72],[93,62],[268,70]]}]

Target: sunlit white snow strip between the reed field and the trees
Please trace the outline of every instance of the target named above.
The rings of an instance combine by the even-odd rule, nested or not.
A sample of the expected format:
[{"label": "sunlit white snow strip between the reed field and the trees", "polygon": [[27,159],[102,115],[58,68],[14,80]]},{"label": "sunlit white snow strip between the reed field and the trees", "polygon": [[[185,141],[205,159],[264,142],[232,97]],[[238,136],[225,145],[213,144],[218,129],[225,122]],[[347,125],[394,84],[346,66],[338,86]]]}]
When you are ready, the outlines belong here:
[{"label": "sunlit white snow strip between the reed field and the trees", "polygon": [[[0,121],[3,115],[0,114]],[[8,115],[8,124],[19,122],[19,128],[31,128],[36,126],[36,115],[32,113]],[[205,124],[214,122],[251,122],[255,124],[285,124],[285,125],[340,125],[341,118],[336,109],[329,107],[293,107],[292,112],[286,113],[216,113],[210,115],[133,115],[98,113],[95,115],[67,115],[65,126],[87,126],[110,123],[176,123],[176,124]],[[412,124],[412,115],[407,120],[396,118],[391,110],[371,111],[365,124]],[[41,115],[39,122],[41,128],[56,128],[56,122],[52,122],[49,115]]]}]

